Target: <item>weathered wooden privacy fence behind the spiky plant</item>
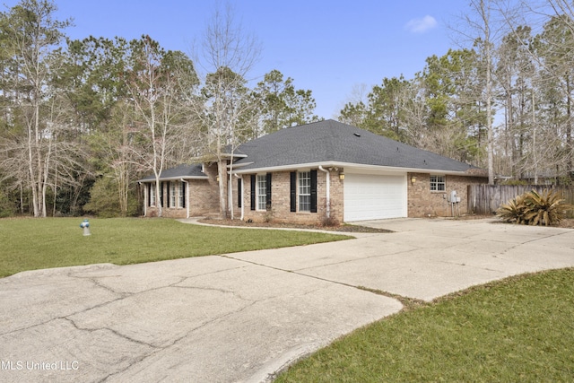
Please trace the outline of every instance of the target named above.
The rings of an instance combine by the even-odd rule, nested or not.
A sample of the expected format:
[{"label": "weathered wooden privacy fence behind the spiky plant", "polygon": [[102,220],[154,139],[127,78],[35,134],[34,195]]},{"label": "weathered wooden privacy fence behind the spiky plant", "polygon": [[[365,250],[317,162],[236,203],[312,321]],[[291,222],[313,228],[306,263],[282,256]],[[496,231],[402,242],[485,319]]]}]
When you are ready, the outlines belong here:
[{"label": "weathered wooden privacy fence behind the spiky plant", "polygon": [[567,203],[574,205],[574,187],[556,187],[548,185],[469,185],[468,211],[475,214],[491,214],[502,204],[523,193],[535,189],[542,192],[551,188],[562,195]]}]

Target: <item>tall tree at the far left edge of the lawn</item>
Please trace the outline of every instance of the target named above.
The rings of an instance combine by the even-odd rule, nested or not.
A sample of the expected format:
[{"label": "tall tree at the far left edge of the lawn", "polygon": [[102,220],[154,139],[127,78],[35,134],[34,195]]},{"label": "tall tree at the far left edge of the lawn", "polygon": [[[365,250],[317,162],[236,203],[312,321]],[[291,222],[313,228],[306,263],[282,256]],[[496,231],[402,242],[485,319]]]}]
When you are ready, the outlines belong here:
[{"label": "tall tree at the far left edge of the lawn", "polygon": [[50,74],[58,63],[58,45],[70,25],[69,21],[57,21],[56,11],[56,4],[48,0],[22,0],[0,14],[4,97],[11,100],[11,115],[22,118],[24,163],[35,217],[47,215],[48,176],[58,126],[47,116],[58,107],[50,108],[48,102],[61,100],[47,92]]}]

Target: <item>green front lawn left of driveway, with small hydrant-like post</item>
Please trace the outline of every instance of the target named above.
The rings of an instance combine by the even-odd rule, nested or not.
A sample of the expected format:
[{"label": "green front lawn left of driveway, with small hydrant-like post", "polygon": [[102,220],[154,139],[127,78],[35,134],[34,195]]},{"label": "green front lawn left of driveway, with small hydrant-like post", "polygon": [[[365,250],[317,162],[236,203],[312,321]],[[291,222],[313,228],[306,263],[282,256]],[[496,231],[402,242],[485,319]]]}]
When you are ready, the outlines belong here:
[{"label": "green front lawn left of driveway, with small hydrant-like post", "polygon": [[91,219],[83,236],[79,218],[0,220],[0,277],[50,267],[201,257],[349,239],[304,231],[197,226],[168,219]]}]

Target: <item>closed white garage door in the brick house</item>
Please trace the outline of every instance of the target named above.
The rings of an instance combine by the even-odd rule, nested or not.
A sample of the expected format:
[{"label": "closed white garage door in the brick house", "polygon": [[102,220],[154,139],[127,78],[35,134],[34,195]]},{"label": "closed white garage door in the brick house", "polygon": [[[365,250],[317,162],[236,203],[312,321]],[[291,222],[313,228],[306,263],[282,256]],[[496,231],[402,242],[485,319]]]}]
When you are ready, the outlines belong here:
[{"label": "closed white garage door in the brick house", "polygon": [[406,176],[345,174],[344,221],[406,217]]}]

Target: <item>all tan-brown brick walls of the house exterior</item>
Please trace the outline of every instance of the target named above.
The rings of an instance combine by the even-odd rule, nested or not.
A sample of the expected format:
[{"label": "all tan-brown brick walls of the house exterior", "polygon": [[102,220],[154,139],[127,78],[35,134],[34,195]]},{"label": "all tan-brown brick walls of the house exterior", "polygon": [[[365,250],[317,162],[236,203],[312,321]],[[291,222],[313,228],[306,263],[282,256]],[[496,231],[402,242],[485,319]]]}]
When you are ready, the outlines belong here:
[{"label": "all tan-brown brick walls of the house exterior", "polygon": [[[339,179],[339,172],[330,172],[330,196],[332,219],[337,222],[344,220],[344,180]],[[251,210],[251,177],[243,175],[243,212],[244,220],[254,222],[294,222],[320,224],[326,220],[326,173],[317,170],[317,213],[291,212],[290,171],[272,173],[272,208],[271,211]],[[205,166],[205,174],[209,179],[190,179],[187,193],[189,216],[218,215],[219,214],[219,185],[217,178],[217,164]],[[416,177],[413,184],[411,178]],[[458,204],[460,214],[468,213],[467,186],[483,184],[483,177],[446,176],[446,191],[431,191],[431,175],[425,173],[408,173],[408,216],[409,217],[432,217],[451,216],[451,205],[448,196],[452,190],[457,190],[457,196],[461,202]],[[163,196],[167,196],[168,183],[164,183]],[[241,208],[239,207],[238,178],[232,178],[232,201],[233,217],[239,219]],[[167,205],[164,197],[164,205]],[[147,207],[146,216],[157,216],[157,208]],[[163,208],[163,216],[168,218],[185,218],[186,208]]]}]

